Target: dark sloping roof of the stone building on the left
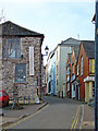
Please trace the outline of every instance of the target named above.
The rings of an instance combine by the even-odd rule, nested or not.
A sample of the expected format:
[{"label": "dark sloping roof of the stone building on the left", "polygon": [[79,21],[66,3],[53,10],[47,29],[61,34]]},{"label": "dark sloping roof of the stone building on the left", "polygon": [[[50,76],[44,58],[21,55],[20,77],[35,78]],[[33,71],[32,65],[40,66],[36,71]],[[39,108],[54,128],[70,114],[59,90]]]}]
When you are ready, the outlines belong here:
[{"label": "dark sloping roof of the stone building on the left", "polygon": [[17,24],[8,21],[0,24],[0,35],[2,36],[39,36],[44,38],[44,34],[29,31],[25,27],[22,27]]}]

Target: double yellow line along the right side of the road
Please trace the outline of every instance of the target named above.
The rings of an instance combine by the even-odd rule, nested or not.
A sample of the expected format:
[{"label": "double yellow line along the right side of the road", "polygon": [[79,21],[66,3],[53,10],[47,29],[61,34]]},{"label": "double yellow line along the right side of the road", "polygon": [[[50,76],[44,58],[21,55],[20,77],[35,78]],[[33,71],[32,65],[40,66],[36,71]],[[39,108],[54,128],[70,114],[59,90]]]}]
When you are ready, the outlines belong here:
[{"label": "double yellow line along the right side of the road", "polygon": [[78,122],[79,111],[81,111],[81,105],[77,107],[76,116],[75,116],[75,119],[72,123],[71,131],[75,131],[75,128],[76,128],[77,122]]}]

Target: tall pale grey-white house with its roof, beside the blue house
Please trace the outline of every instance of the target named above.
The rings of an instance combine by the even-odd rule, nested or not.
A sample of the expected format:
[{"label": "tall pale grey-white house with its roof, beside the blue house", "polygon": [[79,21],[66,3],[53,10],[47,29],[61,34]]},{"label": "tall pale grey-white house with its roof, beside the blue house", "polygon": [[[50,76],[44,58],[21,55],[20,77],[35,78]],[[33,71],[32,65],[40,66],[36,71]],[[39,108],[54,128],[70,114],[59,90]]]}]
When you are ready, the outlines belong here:
[{"label": "tall pale grey-white house with its roof, beside the blue house", "polygon": [[66,95],[66,78],[65,63],[68,53],[72,52],[74,46],[79,46],[81,41],[74,38],[69,38],[59,44],[56,48],[56,95],[63,97]]}]

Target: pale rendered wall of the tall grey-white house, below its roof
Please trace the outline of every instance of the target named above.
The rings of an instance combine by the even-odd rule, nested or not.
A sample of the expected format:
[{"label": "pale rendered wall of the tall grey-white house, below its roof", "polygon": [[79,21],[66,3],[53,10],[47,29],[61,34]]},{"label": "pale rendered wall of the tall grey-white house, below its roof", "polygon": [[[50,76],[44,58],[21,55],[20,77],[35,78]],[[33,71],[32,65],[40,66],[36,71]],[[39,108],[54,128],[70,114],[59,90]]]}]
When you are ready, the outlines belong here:
[{"label": "pale rendered wall of the tall grey-white house, below its roof", "polygon": [[[58,60],[57,60],[57,51],[58,51]],[[71,52],[71,47],[68,46],[58,46],[58,48],[56,49],[56,91],[57,91],[57,95],[59,95],[60,92],[60,96],[62,96],[62,92],[63,92],[63,96],[66,95],[65,85],[63,86],[63,84],[65,83],[66,80],[65,62],[69,52]],[[58,66],[58,75],[57,75],[57,66]],[[58,80],[58,85],[57,85],[57,80]]]}]

